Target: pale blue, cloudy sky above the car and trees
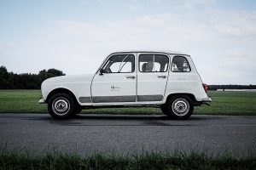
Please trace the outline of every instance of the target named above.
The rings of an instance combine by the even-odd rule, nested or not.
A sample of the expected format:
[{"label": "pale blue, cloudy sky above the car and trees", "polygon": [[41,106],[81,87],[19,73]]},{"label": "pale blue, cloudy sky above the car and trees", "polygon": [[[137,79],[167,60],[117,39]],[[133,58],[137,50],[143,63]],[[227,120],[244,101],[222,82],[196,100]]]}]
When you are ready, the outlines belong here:
[{"label": "pale blue, cloudy sky above the car and trees", "polygon": [[0,0],[0,65],[95,73],[126,49],[189,54],[207,84],[256,84],[256,0]]}]

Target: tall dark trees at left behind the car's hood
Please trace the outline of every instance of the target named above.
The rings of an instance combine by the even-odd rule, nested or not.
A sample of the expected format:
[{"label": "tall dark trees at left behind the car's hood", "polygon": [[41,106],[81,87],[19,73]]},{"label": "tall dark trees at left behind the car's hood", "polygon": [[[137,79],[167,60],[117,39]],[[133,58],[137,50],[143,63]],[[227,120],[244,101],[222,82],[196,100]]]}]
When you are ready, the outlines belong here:
[{"label": "tall dark trees at left behind the car's hood", "polygon": [[47,78],[64,75],[62,71],[56,69],[39,71],[38,74],[16,74],[7,71],[2,65],[0,67],[0,89],[40,89],[41,83]]}]

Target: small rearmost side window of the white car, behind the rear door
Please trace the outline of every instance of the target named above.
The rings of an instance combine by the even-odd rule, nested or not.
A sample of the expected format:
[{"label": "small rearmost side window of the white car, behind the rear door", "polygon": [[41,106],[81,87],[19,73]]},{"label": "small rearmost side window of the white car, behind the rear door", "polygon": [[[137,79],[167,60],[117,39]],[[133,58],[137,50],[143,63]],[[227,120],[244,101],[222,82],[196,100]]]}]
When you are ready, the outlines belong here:
[{"label": "small rearmost side window of the white car, behind the rear door", "polygon": [[188,60],[183,56],[174,56],[172,59],[173,72],[189,72],[191,71]]}]

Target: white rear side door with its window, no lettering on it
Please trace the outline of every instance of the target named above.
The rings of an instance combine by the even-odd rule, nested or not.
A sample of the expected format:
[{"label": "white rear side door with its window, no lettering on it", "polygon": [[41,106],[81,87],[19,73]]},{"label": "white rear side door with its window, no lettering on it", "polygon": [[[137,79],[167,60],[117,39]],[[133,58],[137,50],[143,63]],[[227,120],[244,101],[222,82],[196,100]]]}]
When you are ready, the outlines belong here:
[{"label": "white rear side door with its window, no lettering on it", "polygon": [[138,54],[137,101],[162,101],[170,59],[166,54]]}]

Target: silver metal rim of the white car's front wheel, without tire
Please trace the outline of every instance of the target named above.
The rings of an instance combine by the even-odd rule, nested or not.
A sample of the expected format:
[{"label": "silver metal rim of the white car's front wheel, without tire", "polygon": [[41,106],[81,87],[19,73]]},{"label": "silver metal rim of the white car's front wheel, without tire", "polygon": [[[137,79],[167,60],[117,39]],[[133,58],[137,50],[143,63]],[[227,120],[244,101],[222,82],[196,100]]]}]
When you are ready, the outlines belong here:
[{"label": "silver metal rim of the white car's front wheel, without tire", "polygon": [[52,110],[55,112],[56,115],[63,116],[66,115],[67,112],[70,110],[70,103],[68,99],[60,97],[56,98],[52,102]]}]

